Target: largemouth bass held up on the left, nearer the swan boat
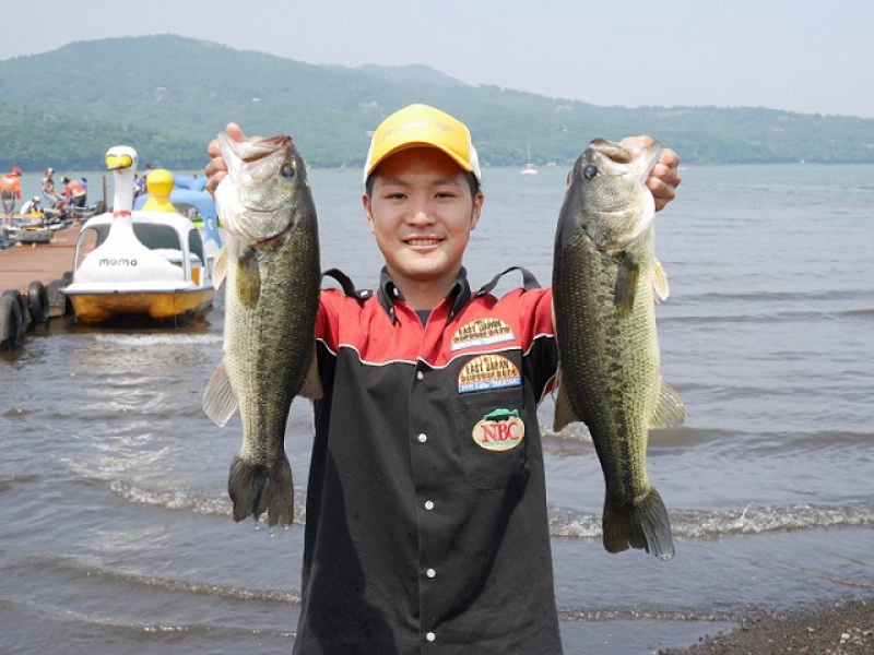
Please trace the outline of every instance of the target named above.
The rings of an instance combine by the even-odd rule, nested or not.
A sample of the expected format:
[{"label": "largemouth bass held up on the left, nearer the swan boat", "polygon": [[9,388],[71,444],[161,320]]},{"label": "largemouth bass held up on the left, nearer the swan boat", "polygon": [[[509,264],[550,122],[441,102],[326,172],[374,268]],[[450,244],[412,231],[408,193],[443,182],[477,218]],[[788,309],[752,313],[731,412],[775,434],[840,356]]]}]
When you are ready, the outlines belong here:
[{"label": "largemouth bass held up on the left, nearer the swan boat", "polygon": [[224,426],[239,407],[243,445],[227,490],[234,519],[294,520],[285,424],[295,395],[320,397],[315,324],[321,271],[316,209],[291,136],[239,143],[218,135],[228,172],[215,190],[227,231],[215,285],[225,284],[223,359],[203,410]]}]

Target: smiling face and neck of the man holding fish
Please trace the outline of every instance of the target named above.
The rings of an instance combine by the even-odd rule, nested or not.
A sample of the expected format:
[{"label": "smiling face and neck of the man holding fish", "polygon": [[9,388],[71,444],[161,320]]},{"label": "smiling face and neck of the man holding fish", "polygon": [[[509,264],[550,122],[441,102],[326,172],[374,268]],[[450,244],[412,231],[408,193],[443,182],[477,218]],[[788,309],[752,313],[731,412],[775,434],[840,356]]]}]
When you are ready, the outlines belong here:
[{"label": "smiling face and neck of the man holding fish", "polygon": [[389,273],[402,289],[405,283],[451,286],[483,205],[482,193],[471,196],[458,164],[433,147],[395,153],[379,165],[373,193],[363,202]]}]

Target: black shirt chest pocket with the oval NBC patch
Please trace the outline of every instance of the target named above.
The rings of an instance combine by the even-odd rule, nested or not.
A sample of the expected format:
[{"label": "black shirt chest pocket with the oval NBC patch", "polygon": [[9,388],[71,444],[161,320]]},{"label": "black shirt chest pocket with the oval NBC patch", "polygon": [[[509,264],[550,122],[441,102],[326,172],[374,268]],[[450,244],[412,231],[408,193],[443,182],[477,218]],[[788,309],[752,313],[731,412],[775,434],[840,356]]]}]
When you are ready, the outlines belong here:
[{"label": "black shirt chest pocket with the oval NBC patch", "polygon": [[[504,489],[528,479],[528,426],[524,418],[524,394],[521,388],[461,394],[454,398],[454,420],[464,475],[479,489]],[[519,442],[509,450],[489,450],[474,439],[481,421],[496,412],[518,417],[524,428]],[[492,425],[497,426],[500,421]],[[515,429],[518,437],[518,426]]]}]

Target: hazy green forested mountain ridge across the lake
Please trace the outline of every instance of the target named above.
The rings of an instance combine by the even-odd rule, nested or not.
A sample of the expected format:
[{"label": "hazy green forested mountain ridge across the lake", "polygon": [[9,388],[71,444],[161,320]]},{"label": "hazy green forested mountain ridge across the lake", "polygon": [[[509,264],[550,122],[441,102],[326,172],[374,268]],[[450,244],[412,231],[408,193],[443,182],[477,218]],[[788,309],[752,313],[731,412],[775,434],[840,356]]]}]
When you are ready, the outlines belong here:
[{"label": "hazy green forested mountain ridge across the lake", "polygon": [[201,168],[229,120],[291,133],[311,166],[359,166],[368,130],[413,102],[464,120],[481,159],[574,162],[595,136],[651,134],[684,163],[874,162],[874,120],[765,108],[600,107],[469,86],[421,66],[312,66],[174,35],[70,44],[0,61],[0,170],[99,169],[108,147]]}]

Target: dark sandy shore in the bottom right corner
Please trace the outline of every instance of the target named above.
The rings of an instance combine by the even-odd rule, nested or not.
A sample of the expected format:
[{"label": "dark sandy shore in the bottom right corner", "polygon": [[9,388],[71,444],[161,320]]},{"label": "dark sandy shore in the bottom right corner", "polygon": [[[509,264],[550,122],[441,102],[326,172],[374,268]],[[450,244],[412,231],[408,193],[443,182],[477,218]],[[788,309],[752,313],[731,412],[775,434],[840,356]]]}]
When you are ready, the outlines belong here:
[{"label": "dark sandy shore in the bottom right corner", "polygon": [[789,615],[744,622],[730,633],[704,638],[688,648],[660,655],[871,655],[874,653],[874,599],[848,600]]}]

